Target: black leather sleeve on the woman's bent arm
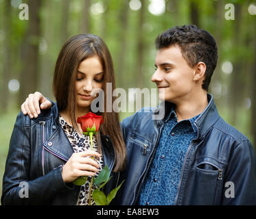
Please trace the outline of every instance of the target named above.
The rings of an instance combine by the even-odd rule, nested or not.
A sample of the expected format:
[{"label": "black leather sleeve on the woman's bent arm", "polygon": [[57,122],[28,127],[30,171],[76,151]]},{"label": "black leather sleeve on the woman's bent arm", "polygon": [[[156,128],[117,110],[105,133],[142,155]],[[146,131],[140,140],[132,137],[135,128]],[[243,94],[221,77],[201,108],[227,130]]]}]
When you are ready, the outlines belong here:
[{"label": "black leather sleeve on the woman's bent arm", "polygon": [[10,139],[3,175],[2,205],[38,205],[47,203],[55,194],[70,190],[62,180],[62,166],[42,177],[30,180],[30,126],[23,126],[20,113]]}]

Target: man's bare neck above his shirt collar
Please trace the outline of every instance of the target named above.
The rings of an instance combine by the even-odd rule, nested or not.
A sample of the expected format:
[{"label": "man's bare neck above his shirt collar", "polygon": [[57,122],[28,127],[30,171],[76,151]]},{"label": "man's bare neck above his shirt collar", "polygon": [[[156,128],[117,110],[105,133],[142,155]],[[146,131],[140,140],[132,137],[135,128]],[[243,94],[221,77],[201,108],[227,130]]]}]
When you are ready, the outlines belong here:
[{"label": "man's bare neck above his shirt collar", "polygon": [[205,110],[207,105],[207,92],[193,95],[186,101],[180,101],[176,103],[175,112],[178,122],[197,116]]}]

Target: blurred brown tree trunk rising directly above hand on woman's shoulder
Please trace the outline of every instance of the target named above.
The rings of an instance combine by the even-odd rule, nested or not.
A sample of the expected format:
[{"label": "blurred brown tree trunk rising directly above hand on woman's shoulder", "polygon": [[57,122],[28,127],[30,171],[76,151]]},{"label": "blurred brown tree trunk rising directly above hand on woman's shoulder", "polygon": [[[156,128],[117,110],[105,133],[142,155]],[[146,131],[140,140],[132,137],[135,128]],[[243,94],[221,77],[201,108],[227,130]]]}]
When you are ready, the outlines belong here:
[{"label": "blurred brown tree trunk rising directly above hand on woman's shoulder", "polygon": [[21,51],[21,89],[19,93],[19,105],[23,103],[28,94],[35,92],[38,88],[38,46],[40,40],[40,10],[41,0],[29,0],[29,24]]}]

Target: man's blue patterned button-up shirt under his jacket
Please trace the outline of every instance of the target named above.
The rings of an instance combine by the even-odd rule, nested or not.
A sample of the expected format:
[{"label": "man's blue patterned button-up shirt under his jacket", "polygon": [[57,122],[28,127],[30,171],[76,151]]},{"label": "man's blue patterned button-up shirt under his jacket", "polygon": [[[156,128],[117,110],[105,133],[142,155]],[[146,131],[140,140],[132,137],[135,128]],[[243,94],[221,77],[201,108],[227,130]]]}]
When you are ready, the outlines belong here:
[{"label": "man's blue patterned button-up shirt under his jacket", "polygon": [[174,205],[185,154],[197,136],[194,121],[198,116],[178,122],[174,109],[171,110],[141,187],[139,205]]}]

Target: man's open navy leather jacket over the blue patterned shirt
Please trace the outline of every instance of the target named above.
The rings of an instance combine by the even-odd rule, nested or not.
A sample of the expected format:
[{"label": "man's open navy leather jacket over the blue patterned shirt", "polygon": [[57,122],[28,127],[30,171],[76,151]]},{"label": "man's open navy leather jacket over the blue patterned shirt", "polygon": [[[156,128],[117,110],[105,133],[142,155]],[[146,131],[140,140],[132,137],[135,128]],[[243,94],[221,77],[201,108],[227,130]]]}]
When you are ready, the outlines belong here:
[{"label": "man's open navy leather jacket over the blue patterned shirt", "polygon": [[[211,94],[208,101],[207,108],[194,122],[198,137],[185,155],[175,205],[256,205],[253,146],[219,116]],[[150,110],[137,112],[121,123],[128,162],[119,178],[126,179],[115,199],[119,205],[137,204],[171,105],[165,102],[162,120],[153,120],[157,111]]]}]

